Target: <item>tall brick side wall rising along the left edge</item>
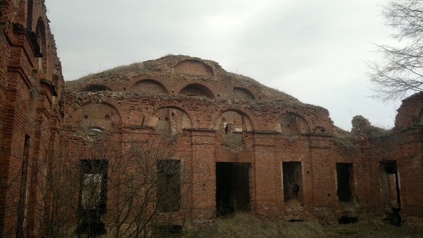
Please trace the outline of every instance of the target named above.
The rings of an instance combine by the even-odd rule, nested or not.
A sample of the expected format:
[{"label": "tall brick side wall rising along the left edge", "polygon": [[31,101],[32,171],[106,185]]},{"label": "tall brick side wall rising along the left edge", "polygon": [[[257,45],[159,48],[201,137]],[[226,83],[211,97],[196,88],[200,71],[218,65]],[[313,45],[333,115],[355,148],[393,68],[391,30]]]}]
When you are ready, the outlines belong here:
[{"label": "tall brick side wall rising along the left edge", "polygon": [[28,228],[25,234],[34,236],[41,221],[32,210],[39,207],[30,208],[40,198],[34,168],[43,166],[41,158],[58,139],[63,77],[44,1],[1,3],[0,233],[4,237],[23,235],[17,229],[17,207],[21,205]]}]

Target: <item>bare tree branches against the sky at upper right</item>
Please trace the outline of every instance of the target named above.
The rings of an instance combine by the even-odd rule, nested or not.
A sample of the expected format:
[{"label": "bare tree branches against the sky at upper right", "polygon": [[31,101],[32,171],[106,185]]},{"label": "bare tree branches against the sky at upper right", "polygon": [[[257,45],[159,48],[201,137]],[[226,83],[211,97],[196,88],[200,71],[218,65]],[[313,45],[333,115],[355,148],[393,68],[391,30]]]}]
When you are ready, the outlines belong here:
[{"label": "bare tree branches against the sky at upper right", "polygon": [[423,91],[423,1],[390,1],[382,15],[386,25],[398,30],[391,36],[405,41],[403,48],[376,45],[384,60],[368,63],[373,97],[387,102],[404,98],[410,91]]}]

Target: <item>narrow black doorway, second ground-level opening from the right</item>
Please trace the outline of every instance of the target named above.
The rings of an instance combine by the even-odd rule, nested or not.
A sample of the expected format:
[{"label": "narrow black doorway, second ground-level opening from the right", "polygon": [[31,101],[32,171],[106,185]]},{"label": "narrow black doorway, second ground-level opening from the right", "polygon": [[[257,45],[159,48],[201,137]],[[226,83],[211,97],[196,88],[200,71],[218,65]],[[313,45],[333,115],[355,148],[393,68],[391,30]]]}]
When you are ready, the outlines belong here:
[{"label": "narrow black doorway, second ground-level opening from the right", "polygon": [[339,202],[353,202],[353,192],[351,190],[351,171],[353,164],[336,163],[336,180],[338,189],[336,195]]}]

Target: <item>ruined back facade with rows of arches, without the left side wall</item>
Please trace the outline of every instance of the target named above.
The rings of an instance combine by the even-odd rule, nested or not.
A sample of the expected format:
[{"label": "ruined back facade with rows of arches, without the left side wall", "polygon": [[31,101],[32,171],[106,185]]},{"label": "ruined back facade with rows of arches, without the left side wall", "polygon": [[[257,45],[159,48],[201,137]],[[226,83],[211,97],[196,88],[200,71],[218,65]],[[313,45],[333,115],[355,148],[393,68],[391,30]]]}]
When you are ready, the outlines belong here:
[{"label": "ruined back facade with rows of arches, without the left side wall", "polygon": [[123,143],[158,140],[199,163],[200,217],[222,207],[293,221],[422,216],[422,94],[404,100],[392,130],[357,116],[349,133],[322,107],[189,56],[111,69],[65,91],[69,131],[85,121],[107,131],[113,115]]}]

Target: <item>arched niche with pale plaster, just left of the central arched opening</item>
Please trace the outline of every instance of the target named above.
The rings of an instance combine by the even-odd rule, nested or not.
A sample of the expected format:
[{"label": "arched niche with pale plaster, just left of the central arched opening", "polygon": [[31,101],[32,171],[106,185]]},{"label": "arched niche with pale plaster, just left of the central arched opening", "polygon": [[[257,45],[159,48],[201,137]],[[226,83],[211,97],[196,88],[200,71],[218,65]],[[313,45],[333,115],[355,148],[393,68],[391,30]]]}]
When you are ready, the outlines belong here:
[{"label": "arched niche with pale plaster, just left of the central arched opening", "polygon": [[177,136],[182,129],[192,128],[190,116],[177,107],[163,107],[151,115],[148,126],[159,131],[163,136]]}]

